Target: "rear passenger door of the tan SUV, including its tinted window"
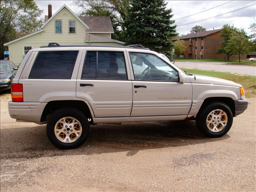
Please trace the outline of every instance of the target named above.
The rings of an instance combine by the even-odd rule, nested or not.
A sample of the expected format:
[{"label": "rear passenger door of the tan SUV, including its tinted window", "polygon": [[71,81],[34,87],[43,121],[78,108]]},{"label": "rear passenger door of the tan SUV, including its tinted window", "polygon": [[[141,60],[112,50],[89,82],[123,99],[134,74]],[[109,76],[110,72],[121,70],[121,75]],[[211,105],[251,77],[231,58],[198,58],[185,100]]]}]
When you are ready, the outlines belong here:
[{"label": "rear passenger door of the tan SUV, including its tinted window", "polygon": [[95,117],[130,116],[132,82],[124,51],[87,48],[83,52],[76,96],[90,103]]}]

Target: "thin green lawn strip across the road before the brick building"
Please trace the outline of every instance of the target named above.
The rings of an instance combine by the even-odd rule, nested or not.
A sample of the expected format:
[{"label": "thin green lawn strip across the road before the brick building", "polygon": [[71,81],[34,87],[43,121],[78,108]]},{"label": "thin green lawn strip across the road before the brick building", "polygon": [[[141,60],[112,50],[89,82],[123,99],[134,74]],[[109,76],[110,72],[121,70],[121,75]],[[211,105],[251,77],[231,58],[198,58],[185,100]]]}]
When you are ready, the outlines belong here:
[{"label": "thin green lawn strip across the road before the brick building", "polygon": [[[190,61],[190,62],[196,62],[196,59],[185,59],[185,58],[176,58],[175,61]],[[226,59],[197,59],[197,62],[225,62],[225,63],[230,63],[230,64],[235,64],[235,65],[252,65],[256,66],[256,62],[254,61],[247,61],[247,60],[241,60],[239,63],[237,59],[231,59],[231,60],[226,60]]]}]

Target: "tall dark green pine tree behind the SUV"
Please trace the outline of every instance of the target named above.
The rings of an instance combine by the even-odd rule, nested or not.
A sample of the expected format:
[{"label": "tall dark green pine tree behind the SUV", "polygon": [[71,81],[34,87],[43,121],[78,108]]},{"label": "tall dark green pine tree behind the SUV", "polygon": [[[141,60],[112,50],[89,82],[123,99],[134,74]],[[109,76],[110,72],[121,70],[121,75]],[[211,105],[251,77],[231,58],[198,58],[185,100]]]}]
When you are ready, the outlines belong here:
[{"label": "tall dark green pine tree behind the SUV", "polygon": [[171,20],[172,9],[164,0],[131,0],[126,27],[126,44],[141,44],[157,52],[170,51],[176,25]]}]

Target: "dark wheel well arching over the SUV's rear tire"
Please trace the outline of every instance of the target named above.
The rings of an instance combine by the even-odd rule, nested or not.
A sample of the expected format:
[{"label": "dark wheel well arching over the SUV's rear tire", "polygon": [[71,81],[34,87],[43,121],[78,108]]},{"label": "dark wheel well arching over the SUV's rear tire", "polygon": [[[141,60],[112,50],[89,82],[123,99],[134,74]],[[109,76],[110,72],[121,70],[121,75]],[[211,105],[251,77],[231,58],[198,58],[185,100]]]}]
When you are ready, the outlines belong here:
[{"label": "dark wheel well arching over the SUV's rear tire", "polygon": [[[50,114],[52,114],[54,111],[63,107],[76,108],[82,111],[87,118],[90,118],[92,120],[92,114],[85,102],[79,101],[79,100],[58,100],[58,101],[50,101],[46,104],[41,116],[41,122],[44,122],[44,121],[47,122]],[[90,124],[93,124],[93,120],[90,121]]]}]

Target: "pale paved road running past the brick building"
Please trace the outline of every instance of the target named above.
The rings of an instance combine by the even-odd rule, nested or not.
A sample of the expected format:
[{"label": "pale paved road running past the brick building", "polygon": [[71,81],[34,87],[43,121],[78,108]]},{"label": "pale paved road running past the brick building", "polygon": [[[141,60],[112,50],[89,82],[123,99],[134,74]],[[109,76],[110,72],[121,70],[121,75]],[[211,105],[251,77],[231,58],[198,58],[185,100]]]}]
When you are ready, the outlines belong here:
[{"label": "pale paved road running past the brick building", "polygon": [[242,66],[242,65],[228,65],[221,62],[179,62],[175,64],[180,68],[197,69],[201,70],[215,70],[219,72],[230,72],[243,75],[256,76],[256,66]]}]

